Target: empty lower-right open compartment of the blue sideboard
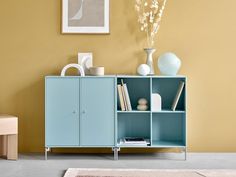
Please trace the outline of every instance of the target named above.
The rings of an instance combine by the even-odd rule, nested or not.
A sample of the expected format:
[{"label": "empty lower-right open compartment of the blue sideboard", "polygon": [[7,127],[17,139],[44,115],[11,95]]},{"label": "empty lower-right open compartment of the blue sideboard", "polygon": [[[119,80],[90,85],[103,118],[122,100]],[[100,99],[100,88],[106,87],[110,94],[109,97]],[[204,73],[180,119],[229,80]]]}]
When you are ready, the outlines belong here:
[{"label": "empty lower-right open compartment of the blue sideboard", "polygon": [[178,147],[186,145],[186,118],[179,113],[152,115],[152,146]]}]

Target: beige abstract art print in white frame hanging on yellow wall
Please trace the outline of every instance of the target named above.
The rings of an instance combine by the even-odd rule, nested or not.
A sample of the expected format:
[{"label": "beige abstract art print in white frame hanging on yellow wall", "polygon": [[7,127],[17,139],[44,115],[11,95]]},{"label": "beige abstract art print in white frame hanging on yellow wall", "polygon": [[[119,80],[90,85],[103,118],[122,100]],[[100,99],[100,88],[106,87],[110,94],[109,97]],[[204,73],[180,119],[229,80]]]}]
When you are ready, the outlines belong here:
[{"label": "beige abstract art print in white frame hanging on yellow wall", "polygon": [[109,33],[109,0],[62,0],[62,33]]}]

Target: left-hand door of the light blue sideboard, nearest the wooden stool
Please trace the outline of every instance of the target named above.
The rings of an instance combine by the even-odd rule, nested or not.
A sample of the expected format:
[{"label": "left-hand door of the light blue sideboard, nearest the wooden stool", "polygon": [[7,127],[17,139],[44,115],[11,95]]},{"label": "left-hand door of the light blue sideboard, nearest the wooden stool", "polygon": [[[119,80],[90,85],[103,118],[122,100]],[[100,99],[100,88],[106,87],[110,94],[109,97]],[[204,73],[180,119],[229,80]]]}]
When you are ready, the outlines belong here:
[{"label": "left-hand door of the light blue sideboard, nearest the wooden stool", "polygon": [[46,78],[46,146],[79,146],[79,78]]}]

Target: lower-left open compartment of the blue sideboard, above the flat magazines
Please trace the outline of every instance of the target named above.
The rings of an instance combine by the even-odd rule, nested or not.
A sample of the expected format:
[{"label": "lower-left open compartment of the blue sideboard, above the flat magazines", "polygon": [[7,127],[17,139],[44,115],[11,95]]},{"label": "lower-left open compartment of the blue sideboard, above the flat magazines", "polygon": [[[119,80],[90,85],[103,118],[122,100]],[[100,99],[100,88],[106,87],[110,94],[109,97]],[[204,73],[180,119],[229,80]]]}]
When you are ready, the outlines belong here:
[{"label": "lower-left open compartment of the blue sideboard, above the flat magazines", "polygon": [[117,141],[124,137],[142,137],[150,139],[150,113],[118,114]]}]

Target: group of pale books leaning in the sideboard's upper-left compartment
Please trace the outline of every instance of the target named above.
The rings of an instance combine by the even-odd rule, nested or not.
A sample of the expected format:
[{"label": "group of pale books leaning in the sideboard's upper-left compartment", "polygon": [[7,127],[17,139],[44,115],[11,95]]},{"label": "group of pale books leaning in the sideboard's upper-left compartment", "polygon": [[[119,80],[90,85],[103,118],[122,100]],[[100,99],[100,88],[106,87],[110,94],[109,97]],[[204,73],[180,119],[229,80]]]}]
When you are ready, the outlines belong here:
[{"label": "group of pale books leaning in the sideboard's upper-left compartment", "polygon": [[117,85],[121,111],[132,111],[127,84],[121,79],[121,84]]}]

